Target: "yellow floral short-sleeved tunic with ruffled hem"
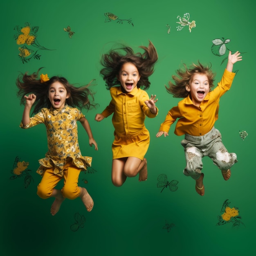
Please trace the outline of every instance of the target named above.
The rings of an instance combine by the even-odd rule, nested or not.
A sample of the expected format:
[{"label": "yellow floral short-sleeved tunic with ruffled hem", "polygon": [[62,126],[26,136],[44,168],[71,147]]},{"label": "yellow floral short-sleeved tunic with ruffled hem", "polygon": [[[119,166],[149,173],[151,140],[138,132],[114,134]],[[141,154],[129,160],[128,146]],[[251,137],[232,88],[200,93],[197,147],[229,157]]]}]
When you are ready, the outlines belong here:
[{"label": "yellow floral short-sleeved tunic with ruffled hem", "polygon": [[39,159],[40,167],[36,171],[44,174],[46,168],[54,167],[54,174],[63,176],[63,166],[66,161],[72,159],[72,164],[78,168],[87,169],[91,166],[92,157],[83,157],[78,143],[76,121],[85,117],[77,108],[65,106],[61,110],[54,108],[42,108],[34,117],[30,118],[29,124],[20,127],[31,128],[38,124],[45,124],[47,132],[48,152],[45,158]]}]

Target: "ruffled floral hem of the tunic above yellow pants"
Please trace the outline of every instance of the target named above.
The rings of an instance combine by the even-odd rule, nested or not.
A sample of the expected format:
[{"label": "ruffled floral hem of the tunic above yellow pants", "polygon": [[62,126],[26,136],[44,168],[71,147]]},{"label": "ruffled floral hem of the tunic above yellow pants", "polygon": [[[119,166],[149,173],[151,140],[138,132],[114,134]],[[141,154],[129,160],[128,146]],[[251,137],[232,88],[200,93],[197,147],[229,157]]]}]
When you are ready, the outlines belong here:
[{"label": "ruffled floral hem of the tunic above yellow pants", "polygon": [[92,165],[92,157],[68,157],[64,160],[53,159],[54,157],[45,157],[39,159],[38,162],[40,167],[37,169],[36,173],[43,176],[45,170],[48,168],[54,168],[53,173],[62,177],[63,176],[63,167],[76,166],[77,168],[82,168],[87,170],[88,167]]}]

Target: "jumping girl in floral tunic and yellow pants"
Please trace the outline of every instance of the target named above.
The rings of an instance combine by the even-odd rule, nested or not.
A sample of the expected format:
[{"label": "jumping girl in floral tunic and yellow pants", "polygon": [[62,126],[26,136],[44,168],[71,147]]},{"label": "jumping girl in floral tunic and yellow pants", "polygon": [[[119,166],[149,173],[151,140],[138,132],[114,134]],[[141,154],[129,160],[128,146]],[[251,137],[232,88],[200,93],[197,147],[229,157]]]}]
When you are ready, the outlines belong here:
[{"label": "jumping girl in floral tunic and yellow pants", "polygon": [[[20,74],[16,81],[18,95],[22,96],[21,103],[25,104],[20,127],[27,129],[37,124],[45,124],[47,131],[48,152],[45,158],[39,160],[37,173],[43,177],[38,184],[37,194],[43,199],[55,198],[51,207],[52,215],[58,212],[65,198],[80,197],[87,211],[91,211],[93,200],[85,188],[78,186],[78,178],[81,170],[91,166],[92,157],[81,155],[77,121],[85,128],[90,146],[93,144],[95,150],[98,150],[98,146],[88,120],[75,106],[87,109],[94,106],[89,101],[89,96],[93,99],[92,92],[88,85],[76,88],[59,76],[49,79],[47,74],[41,74],[38,79],[38,72],[32,75]],[[30,117],[33,105],[35,115]],[[63,188],[55,189],[62,179]]]}]

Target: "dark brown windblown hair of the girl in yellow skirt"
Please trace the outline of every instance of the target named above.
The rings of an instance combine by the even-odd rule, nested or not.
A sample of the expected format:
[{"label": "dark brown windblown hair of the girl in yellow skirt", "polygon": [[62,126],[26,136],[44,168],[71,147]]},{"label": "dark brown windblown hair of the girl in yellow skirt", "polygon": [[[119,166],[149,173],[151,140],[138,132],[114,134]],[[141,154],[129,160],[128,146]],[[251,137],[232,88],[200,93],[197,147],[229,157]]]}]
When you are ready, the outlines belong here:
[{"label": "dark brown windblown hair of the girl in yellow skirt", "polygon": [[[148,76],[154,72],[154,65],[157,62],[158,55],[155,46],[149,41],[148,47],[140,46],[144,49],[144,53],[134,53],[132,48],[123,46],[117,49],[111,49],[107,54],[103,54],[101,58],[101,65],[103,68],[100,71],[103,80],[106,82],[107,90],[112,86],[121,85],[117,79],[117,75],[125,63],[132,63],[139,71],[140,79],[137,83],[138,88],[148,89],[150,81]],[[123,51],[123,54],[121,53]]]}]

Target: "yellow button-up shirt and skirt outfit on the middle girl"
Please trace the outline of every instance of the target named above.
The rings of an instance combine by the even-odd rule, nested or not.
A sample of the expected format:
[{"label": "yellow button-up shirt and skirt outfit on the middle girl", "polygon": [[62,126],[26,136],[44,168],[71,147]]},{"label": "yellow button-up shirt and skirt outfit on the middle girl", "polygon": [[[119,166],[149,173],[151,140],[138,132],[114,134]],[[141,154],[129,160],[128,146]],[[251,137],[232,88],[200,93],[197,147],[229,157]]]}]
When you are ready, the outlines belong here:
[{"label": "yellow button-up shirt and skirt outfit on the middle girl", "polygon": [[144,124],[145,118],[156,117],[146,106],[148,94],[140,88],[124,93],[121,87],[110,88],[112,100],[101,113],[104,117],[112,113],[115,139],[112,144],[113,159],[138,157],[143,160],[148,150],[150,135]]}]

